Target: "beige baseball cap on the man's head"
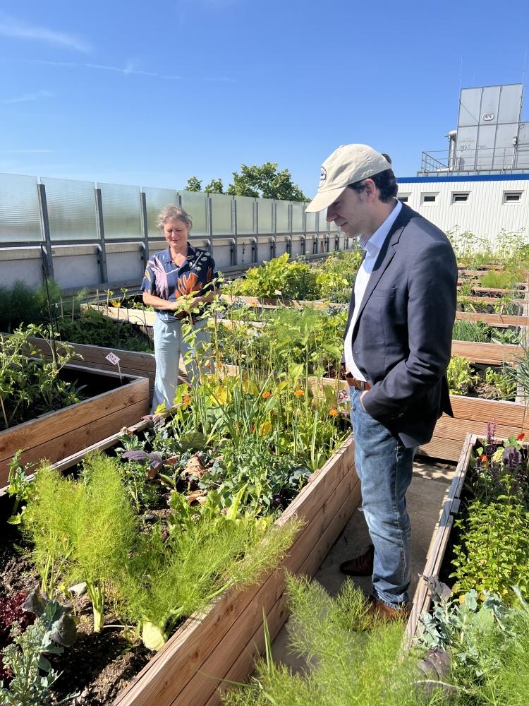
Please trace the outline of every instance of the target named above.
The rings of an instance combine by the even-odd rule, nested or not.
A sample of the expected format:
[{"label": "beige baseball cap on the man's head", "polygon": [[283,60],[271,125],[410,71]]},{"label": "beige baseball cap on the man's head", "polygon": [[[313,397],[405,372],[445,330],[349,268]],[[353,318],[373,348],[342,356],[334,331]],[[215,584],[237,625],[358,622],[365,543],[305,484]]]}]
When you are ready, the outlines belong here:
[{"label": "beige baseball cap on the man's head", "polygon": [[318,193],[305,210],[311,212],[328,208],[348,184],[367,179],[386,169],[391,169],[391,164],[373,148],[367,145],[342,145],[322,164]]}]

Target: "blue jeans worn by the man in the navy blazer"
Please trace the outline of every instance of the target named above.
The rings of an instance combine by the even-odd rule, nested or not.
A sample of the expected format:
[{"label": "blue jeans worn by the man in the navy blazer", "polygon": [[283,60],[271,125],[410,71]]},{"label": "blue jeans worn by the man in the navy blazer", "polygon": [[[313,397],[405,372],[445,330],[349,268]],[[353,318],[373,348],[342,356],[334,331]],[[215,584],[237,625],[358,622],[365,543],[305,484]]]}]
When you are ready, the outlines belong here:
[{"label": "blue jeans worn by the man in the navy blazer", "polygon": [[349,394],[356,472],[362,483],[365,520],[375,545],[373,595],[399,609],[409,600],[411,523],[406,491],[417,447],[406,448],[370,417],[360,405],[360,390],[351,387]]}]

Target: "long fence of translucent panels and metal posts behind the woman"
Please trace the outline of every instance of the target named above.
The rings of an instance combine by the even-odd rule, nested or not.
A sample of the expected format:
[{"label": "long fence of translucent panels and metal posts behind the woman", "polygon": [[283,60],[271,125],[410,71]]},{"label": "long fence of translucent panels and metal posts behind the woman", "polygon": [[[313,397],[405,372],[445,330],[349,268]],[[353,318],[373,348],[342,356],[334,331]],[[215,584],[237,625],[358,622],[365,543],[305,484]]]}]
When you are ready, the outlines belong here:
[{"label": "long fence of translucent panels and metal posts behind the woman", "polygon": [[[0,261],[6,249],[42,246],[44,270],[54,277],[54,258],[60,256],[63,265],[69,248],[78,262],[90,255],[90,265],[87,258],[83,262],[92,270],[97,257],[98,272],[85,276],[90,285],[131,280],[138,276],[138,266],[142,271],[149,251],[164,246],[156,217],[169,203],[190,214],[190,240],[217,253],[220,267],[245,268],[284,251],[316,255],[340,249],[341,241],[346,247],[334,223],[329,225],[324,213],[305,214],[307,204],[302,202],[0,174]],[[116,271],[118,253],[128,252],[138,253],[142,263],[128,270],[123,265],[121,274]],[[4,273],[0,280],[9,276],[6,266]]]}]

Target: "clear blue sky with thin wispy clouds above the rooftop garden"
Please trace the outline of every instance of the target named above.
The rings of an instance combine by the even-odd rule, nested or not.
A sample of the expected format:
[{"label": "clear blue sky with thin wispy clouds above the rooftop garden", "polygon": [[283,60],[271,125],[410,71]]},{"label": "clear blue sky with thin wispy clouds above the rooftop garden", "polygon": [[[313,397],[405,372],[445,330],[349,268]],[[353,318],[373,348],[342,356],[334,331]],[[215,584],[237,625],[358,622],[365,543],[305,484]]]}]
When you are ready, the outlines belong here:
[{"label": "clear blue sky with thin wispy clouds above the rooftop garden", "polygon": [[181,189],[270,160],[312,196],[359,142],[413,176],[460,75],[521,81],[528,27],[527,0],[4,0],[0,172]]}]

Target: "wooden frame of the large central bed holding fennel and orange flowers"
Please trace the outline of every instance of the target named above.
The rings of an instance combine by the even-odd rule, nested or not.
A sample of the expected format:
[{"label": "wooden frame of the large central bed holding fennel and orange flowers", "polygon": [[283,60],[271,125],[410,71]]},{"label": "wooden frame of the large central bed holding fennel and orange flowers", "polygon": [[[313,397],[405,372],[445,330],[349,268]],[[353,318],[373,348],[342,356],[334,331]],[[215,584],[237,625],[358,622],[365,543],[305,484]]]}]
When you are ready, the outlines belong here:
[{"label": "wooden frame of the large central bed holding fennel and orange flowers", "polygon": [[[133,429],[144,427],[138,424]],[[92,449],[114,443],[115,436]],[[67,470],[82,456],[73,455],[56,467]],[[116,698],[114,706],[218,705],[221,679],[244,681],[253,671],[257,652],[264,652],[263,609],[272,638],[287,618],[284,571],[315,573],[359,502],[354,442],[349,438],[312,474],[277,520],[284,524],[297,515],[305,521],[281,568],[249,590],[232,587],[208,611],[189,618]]]}]

